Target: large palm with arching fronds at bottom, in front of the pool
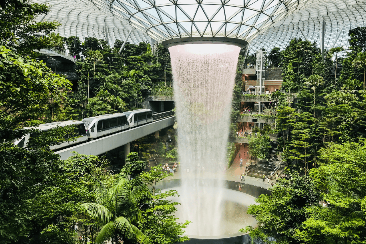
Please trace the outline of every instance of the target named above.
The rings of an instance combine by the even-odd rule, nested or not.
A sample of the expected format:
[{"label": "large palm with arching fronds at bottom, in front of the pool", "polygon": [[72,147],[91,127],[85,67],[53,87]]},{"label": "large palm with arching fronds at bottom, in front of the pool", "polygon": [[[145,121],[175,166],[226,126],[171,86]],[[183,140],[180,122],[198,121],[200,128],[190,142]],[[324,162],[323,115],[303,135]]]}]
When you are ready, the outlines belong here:
[{"label": "large palm with arching fronds at bottom, in front of the pool", "polygon": [[94,179],[93,202],[81,206],[83,214],[104,223],[95,244],[105,243],[110,238],[118,243],[118,236],[136,239],[140,244],[145,243],[145,235],[133,223],[142,219],[143,212],[136,211],[135,208],[146,189],[146,185],[141,184],[131,190],[124,170],[121,170],[113,186],[108,189],[100,180]]}]

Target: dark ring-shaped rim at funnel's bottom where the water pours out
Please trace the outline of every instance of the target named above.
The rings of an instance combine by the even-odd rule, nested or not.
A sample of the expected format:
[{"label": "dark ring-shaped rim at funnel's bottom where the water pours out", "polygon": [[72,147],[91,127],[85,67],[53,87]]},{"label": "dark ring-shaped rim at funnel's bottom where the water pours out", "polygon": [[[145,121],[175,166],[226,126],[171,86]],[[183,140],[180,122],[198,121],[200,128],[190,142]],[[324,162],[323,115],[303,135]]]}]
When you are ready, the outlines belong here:
[{"label": "dark ring-shaped rim at funnel's bottom where the water pours out", "polygon": [[169,47],[184,44],[228,44],[244,48],[248,42],[231,37],[183,37],[166,40],[161,42],[161,44],[167,49]]}]

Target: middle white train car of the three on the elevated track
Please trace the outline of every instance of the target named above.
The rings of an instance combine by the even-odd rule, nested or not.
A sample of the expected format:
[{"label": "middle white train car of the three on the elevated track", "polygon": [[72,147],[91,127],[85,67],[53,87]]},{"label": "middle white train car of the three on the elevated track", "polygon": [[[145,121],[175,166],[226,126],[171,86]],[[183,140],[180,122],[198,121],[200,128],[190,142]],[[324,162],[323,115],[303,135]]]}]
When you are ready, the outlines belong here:
[{"label": "middle white train car of the three on the elevated track", "polygon": [[128,129],[127,116],[120,113],[85,118],[82,119],[82,122],[85,124],[86,133],[90,140]]}]

